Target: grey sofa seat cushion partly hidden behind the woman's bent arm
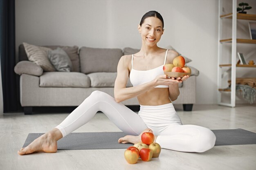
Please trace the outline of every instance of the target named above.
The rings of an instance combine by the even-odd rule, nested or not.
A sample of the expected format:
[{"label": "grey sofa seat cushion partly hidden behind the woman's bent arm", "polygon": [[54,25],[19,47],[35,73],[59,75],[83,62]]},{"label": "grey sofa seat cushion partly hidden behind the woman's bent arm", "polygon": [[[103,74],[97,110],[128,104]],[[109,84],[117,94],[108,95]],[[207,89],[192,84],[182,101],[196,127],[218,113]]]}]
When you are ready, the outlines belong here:
[{"label": "grey sofa seat cushion partly hidden behind the woman's bent arm", "polygon": [[[117,72],[115,72],[115,73],[107,73],[107,72],[90,73],[90,74],[88,74],[88,77],[90,77],[91,87],[114,87],[115,80],[117,77]],[[126,87],[132,87],[130,79],[128,79]]]}]

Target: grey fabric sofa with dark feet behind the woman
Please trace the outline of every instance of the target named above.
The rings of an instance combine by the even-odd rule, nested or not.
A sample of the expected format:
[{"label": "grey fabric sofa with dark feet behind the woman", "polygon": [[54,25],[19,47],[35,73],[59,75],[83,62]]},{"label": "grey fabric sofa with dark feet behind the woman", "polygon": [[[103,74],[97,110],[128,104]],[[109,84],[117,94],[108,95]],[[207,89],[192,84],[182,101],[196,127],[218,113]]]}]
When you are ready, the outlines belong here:
[{"label": "grey fabric sofa with dark feet behind the woman", "polygon": [[[46,46],[56,49],[58,46]],[[117,64],[122,55],[133,53],[131,48],[96,49],[77,46],[60,46],[73,55],[72,72],[44,72],[34,62],[28,61],[23,44],[19,46],[19,62],[14,71],[20,75],[20,104],[25,114],[33,106],[79,106],[93,91],[103,91],[114,97]],[[69,50],[69,51],[68,51]],[[73,54],[70,54],[73,51]],[[180,96],[173,104],[183,104],[192,110],[195,103],[196,76],[191,76],[180,87]],[[130,80],[126,85],[131,87]],[[122,102],[126,106],[139,105],[137,98]]]}]

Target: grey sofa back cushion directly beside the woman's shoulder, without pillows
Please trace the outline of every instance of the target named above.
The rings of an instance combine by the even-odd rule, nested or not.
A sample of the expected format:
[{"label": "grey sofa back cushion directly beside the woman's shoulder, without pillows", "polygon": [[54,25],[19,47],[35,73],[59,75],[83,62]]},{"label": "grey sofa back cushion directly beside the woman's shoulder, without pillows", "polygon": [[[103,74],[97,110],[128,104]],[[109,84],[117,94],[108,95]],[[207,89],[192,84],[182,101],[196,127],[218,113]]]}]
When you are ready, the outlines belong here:
[{"label": "grey sofa back cushion directly beside the woman's shoulder, without pillows", "polygon": [[81,73],[117,72],[117,64],[122,55],[121,49],[81,47],[79,50]]}]

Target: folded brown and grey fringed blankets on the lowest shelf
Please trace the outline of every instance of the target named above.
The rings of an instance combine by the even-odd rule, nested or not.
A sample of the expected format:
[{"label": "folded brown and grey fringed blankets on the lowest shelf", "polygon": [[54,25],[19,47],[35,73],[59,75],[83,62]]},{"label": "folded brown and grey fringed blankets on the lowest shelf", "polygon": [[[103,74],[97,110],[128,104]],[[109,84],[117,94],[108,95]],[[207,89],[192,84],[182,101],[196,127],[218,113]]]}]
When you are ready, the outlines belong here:
[{"label": "folded brown and grey fringed blankets on the lowest shelf", "polygon": [[[228,83],[230,89],[231,80]],[[256,97],[256,78],[236,78],[236,91],[243,94],[245,101],[253,104]]]}]

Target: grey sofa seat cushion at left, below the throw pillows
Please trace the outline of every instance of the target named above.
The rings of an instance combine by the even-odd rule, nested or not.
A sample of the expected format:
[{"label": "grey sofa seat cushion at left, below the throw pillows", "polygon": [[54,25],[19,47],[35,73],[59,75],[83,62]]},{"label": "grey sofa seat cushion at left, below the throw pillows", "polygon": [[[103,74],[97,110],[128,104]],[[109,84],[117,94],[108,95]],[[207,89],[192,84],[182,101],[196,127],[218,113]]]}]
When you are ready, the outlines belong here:
[{"label": "grey sofa seat cushion at left, below the throw pillows", "polygon": [[90,87],[90,78],[77,72],[44,72],[40,87]]}]

